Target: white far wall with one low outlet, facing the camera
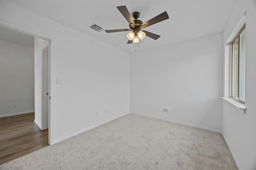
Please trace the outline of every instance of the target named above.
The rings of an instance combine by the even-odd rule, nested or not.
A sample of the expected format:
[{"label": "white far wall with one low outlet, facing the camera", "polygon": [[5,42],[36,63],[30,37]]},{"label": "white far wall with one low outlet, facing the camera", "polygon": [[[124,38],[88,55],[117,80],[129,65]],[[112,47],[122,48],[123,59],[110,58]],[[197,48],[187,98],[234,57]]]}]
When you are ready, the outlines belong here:
[{"label": "white far wall with one low outlet, facing the camera", "polygon": [[220,33],[132,54],[130,111],[220,132],[222,50]]}]

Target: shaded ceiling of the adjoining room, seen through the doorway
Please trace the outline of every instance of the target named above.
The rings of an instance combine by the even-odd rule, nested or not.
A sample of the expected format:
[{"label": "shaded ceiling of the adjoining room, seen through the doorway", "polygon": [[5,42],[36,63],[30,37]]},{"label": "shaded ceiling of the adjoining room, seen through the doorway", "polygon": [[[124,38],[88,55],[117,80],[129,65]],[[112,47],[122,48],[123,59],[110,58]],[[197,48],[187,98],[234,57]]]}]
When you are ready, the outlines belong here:
[{"label": "shaded ceiling of the adjoining room, seen through the doorway", "polygon": [[5,27],[0,27],[0,40],[34,47],[34,37]]}]

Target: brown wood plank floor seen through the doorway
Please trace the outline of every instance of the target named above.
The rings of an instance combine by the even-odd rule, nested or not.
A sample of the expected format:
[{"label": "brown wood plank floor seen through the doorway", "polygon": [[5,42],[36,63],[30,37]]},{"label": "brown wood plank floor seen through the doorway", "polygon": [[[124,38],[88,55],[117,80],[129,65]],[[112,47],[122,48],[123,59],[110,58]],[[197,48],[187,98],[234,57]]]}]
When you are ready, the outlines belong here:
[{"label": "brown wood plank floor seen through the doorway", "polygon": [[0,164],[48,146],[48,129],[34,119],[35,113],[0,118]]}]

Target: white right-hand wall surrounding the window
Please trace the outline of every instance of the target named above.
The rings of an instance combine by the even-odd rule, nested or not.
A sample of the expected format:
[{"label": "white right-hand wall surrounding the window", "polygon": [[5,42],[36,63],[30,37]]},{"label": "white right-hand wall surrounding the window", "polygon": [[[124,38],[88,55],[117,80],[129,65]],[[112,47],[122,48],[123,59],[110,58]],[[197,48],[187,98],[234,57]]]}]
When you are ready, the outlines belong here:
[{"label": "white right-hand wall surrounding the window", "polygon": [[[224,29],[223,43],[246,12],[246,114],[223,101],[222,131],[240,169],[256,169],[256,1],[237,1]],[[226,89],[226,88],[225,88]]]}]

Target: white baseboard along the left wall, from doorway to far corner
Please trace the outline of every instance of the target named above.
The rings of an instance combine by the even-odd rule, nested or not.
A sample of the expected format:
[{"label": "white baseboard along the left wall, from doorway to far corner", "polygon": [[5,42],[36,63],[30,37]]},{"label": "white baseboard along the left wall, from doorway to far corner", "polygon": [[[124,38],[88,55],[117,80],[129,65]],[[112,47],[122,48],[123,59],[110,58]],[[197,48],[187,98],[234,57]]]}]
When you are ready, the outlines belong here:
[{"label": "white baseboard along the left wall, from doorway to far corner", "polygon": [[64,137],[61,137],[61,138],[59,138],[59,139],[55,139],[55,140],[53,141],[53,143],[55,144],[55,143],[64,141],[64,140],[66,140],[66,139],[68,139],[68,138],[70,138],[70,137],[76,136],[76,135],[78,135],[78,134],[80,134],[80,133],[83,133],[83,132],[85,132],[85,131],[88,131],[88,130],[90,130],[90,129],[93,129],[93,128],[95,128],[95,127],[98,127],[98,126],[100,126],[100,125],[103,125],[103,124],[105,124],[105,123],[108,123],[108,122],[110,122],[110,121],[112,121],[112,120],[114,120],[114,119],[117,119],[117,118],[122,117],[122,116],[124,116],[124,115],[127,115],[127,114],[129,114],[129,113],[130,113],[130,112],[123,113],[123,114],[118,115],[118,116],[116,116],[116,117],[112,117],[112,118],[107,119],[107,120],[104,120],[104,121],[102,121],[102,122],[100,122],[100,123],[96,123],[95,125],[92,125],[92,126],[89,126],[89,127],[84,128],[84,129],[81,129],[80,131],[76,131],[76,132],[74,132],[74,133],[71,133],[71,134],[66,135],[66,136],[64,136]]}]

